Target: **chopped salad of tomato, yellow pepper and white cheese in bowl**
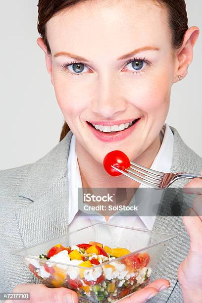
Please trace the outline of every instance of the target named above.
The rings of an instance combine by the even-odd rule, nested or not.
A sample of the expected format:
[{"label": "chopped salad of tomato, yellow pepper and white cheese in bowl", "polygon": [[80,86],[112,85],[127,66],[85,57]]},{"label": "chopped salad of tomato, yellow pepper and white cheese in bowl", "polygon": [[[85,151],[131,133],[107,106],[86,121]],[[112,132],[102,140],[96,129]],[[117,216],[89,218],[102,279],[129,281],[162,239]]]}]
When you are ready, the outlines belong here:
[{"label": "chopped salad of tomato, yellow pepper and white cheese in bowl", "polygon": [[56,244],[45,254],[31,257],[38,258],[26,258],[37,278],[48,287],[76,291],[80,303],[116,302],[143,288],[152,272],[148,253],[132,254],[98,242],[71,247]]}]

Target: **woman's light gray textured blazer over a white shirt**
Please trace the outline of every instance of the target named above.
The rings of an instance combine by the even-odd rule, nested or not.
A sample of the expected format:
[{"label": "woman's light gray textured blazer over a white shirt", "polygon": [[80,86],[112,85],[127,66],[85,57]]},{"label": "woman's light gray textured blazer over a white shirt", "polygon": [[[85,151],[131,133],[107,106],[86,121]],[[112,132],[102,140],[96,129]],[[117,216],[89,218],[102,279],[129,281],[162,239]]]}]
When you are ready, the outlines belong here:
[{"label": "woman's light gray textured blazer over a white shirt", "polygon": [[[181,139],[176,129],[171,171],[202,170],[202,158]],[[20,283],[39,283],[27,267],[9,252],[59,237],[68,232],[67,159],[72,132],[35,163],[0,171],[0,292],[11,292]],[[174,187],[183,187],[179,180]],[[186,198],[191,205],[193,196]],[[160,292],[151,303],[182,303],[177,269],[189,250],[189,237],[182,217],[157,216],[153,230],[178,234],[171,240],[153,270],[152,278],[168,279],[169,290]]]}]

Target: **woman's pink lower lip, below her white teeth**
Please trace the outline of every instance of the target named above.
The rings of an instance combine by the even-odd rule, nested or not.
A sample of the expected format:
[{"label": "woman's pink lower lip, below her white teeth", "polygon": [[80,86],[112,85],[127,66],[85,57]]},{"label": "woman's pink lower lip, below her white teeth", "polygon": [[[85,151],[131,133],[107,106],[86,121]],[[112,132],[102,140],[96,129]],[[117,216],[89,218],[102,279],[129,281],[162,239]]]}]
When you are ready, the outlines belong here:
[{"label": "woman's pink lower lip, below her white teeth", "polygon": [[[90,130],[92,131],[92,133],[102,142],[115,142],[115,141],[120,141],[125,139],[126,137],[128,137],[133,130],[137,127],[137,125],[140,123],[140,121],[142,120],[142,118],[139,118],[139,120],[137,122],[135,122],[135,124],[133,124],[131,127],[119,131],[117,133],[114,134],[109,134],[109,133],[101,133],[100,131],[97,131],[90,123],[87,122],[88,127],[90,128]],[[129,122],[131,120],[128,120]],[[97,122],[96,122],[97,123]],[[117,123],[117,122],[116,122]],[[127,122],[125,122],[127,123]],[[94,124],[94,123],[93,123]],[[99,125],[99,124],[98,124]],[[103,124],[100,124],[103,125]],[[109,125],[109,124],[108,124]],[[115,125],[115,124],[112,124]]]}]

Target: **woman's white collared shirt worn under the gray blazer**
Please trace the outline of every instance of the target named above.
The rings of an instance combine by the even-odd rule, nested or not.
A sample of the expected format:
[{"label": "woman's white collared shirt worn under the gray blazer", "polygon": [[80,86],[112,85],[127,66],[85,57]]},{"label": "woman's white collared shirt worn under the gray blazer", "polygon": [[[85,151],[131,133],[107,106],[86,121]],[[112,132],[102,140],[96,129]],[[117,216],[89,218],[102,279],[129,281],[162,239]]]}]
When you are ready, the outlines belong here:
[{"label": "woman's white collared shirt worn under the gray blazer", "polygon": [[[152,163],[151,169],[162,171],[162,172],[170,172],[170,168],[172,165],[173,158],[173,145],[174,145],[174,135],[170,129],[170,127],[165,124],[160,132],[161,136],[161,147]],[[70,143],[69,157],[68,157],[68,181],[69,181],[69,231],[74,231],[91,224],[95,224],[98,222],[106,223],[104,216],[79,216],[78,212],[78,188],[82,188],[82,181],[79,171],[79,165],[77,161],[77,156],[75,152],[75,136],[73,135]],[[142,184],[139,188],[144,188]],[[137,191],[138,192],[138,191]],[[137,193],[136,192],[136,193]],[[144,193],[144,197],[143,194]],[[151,191],[141,192],[141,199],[143,201],[148,201],[147,205],[150,207],[151,203]],[[159,201],[162,191],[152,191],[153,195],[156,195],[156,201]],[[147,195],[148,194],[148,195]],[[136,194],[134,195],[131,203],[134,203]],[[152,198],[152,201],[153,198]],[[144,204],[144,207],[147,207]],[[135,228],[146,228],[152,230],[152,226],[155,220],[155,216],[111,216],[108,219],[108,223],[114,225],[123,225],[130,226]],[[104,235],[106,236],[106,235]],[[128,236],[128,235],[127,235]],[[120,235],[121,237],[121,235]]]}]

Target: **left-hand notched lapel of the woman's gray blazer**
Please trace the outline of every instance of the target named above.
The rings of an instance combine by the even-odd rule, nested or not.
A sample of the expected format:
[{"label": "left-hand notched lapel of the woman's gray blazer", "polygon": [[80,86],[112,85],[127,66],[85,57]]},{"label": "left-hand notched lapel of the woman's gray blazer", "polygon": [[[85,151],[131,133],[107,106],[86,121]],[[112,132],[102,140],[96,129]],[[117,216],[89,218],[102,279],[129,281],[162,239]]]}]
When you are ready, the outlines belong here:
[{"label": "left-hand notched lapel of the woman's gray blazer", "polygon": [[15,213],[25,247],[68,231],[67,159],[72,132],[31,166],[19,196],[29,204]]}]

